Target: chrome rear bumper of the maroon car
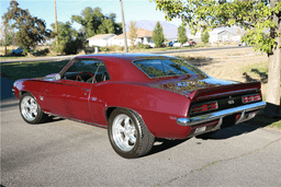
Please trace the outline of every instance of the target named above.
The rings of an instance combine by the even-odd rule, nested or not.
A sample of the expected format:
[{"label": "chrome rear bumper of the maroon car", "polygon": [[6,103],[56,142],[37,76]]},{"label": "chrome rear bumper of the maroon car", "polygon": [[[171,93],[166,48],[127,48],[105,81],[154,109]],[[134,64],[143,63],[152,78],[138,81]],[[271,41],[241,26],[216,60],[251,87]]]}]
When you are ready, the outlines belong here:
[{"label": "chrome rear bumper of the maroon car", "polygon": [[266,102],[258,102],[258,103],[238,106],[235,108],[224,109],[221,112],[195,116],[195,117],[191,117],[191,118],[178,118],[177,122],[180,126],[195,126],[195,125],[207,122],[211,120],[221,119],[224,116],[228,116],[228,115],[232,115],[235,113],[244,113],[245,114],[245,112],[260,109],[260,108],[266,107],[266,105],[267,105]]}]

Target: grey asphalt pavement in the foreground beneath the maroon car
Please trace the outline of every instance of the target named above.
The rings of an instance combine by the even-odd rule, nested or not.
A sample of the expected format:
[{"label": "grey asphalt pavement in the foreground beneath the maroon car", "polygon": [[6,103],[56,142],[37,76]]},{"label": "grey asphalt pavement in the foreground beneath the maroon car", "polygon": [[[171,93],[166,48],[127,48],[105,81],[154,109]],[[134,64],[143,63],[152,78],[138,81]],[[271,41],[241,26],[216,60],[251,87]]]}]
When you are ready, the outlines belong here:
[{"label": "grey asphalt pavement in the foreground beneath the maroon car", "polygon": [[241,124],[125,160],[106,129],[61,119],[27,125],[18,103],[1,101],[1,187],[281,186],[280,131]]}]

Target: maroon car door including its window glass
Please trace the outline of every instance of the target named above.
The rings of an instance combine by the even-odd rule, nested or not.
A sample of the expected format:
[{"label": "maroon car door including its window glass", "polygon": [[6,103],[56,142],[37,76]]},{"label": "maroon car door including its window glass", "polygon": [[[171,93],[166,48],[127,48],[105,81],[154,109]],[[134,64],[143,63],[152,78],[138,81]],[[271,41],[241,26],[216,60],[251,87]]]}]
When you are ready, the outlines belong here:
[{"label": "maroon car door including its window glass", "polygon": [[45,93],[48,113],[93,122],[89,95],[99,63],[94,59],[75,59],[60,73],[61,80],[50,82]]}]

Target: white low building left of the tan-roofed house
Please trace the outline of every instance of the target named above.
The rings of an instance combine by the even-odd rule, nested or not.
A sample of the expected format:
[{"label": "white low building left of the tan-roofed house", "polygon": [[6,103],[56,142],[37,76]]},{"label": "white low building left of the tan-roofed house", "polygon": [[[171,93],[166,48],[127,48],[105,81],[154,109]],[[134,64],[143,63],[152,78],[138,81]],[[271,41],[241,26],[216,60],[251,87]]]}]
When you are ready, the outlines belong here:
[{"label": "white low building left of the tan-roofed house", "polygon": [[88,38],[87,40],[89,40],[89,46],[91,47],[92,46],[104,47],[104,46],[114,45],[112,40],[115,36],[116,36],[115,34],[99,34]]}]

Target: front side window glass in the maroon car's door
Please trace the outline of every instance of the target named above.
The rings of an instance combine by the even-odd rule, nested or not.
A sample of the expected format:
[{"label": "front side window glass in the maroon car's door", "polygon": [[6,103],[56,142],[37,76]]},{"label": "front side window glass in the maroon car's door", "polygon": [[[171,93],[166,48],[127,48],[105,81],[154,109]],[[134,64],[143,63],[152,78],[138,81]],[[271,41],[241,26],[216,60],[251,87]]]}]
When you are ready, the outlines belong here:
[{"label": "front side window glass in the maroon car's door", "polygon": [[99,65],[100,61],[95,59],[75,59],[64,73],[63,79],[91,83]]}]

